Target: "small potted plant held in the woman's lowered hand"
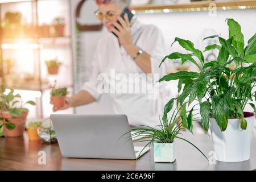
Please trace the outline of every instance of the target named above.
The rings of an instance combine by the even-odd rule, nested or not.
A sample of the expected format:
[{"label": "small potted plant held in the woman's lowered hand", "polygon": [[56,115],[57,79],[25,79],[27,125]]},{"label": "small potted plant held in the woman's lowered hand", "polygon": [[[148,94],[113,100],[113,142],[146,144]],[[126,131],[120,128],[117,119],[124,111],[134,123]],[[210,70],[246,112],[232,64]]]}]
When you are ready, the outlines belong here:
[{"label": "small potted plant held in the woman's lowered hand", "polygon": [[54,107],[63,107],[65,105],[66,96],[68,94],[67,87],[52,88],[51,101]]}]

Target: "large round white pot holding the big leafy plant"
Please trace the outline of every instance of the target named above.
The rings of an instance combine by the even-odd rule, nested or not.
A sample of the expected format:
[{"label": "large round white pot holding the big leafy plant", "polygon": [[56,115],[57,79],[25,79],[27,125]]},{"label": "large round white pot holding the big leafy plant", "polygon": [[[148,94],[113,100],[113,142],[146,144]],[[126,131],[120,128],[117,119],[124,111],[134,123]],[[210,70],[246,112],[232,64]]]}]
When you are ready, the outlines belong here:
[{"label": "large round white pot holding the big leafy plant", "polygon": [[241,119],[228,119],[228,127],[221,131],[214,118],[210,118],[213,148],[216,160],[221,162],[242,162],[250,159],[251,137],[253,135],[253,113],[244,112],[246,130],[240,127]]}]

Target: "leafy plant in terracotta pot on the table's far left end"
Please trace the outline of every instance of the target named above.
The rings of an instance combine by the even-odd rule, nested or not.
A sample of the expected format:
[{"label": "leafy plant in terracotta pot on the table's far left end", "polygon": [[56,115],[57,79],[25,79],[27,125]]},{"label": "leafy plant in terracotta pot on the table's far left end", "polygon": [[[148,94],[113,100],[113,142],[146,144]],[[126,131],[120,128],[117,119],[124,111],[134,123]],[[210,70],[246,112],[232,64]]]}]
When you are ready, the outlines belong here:
[{"label": "leafy plant in terracotta pot on the table's far left end", "polygon": [[[0,90],[0,118],[3,118],[3,127],[7,137],[19,137],[23,135],[28,109],[23,107],[19,94],[14,95],[14,90],[5,94],[6,88],[2,84]],[[15,105],[20,104],[20,107]],[[24,105],[35,105],[33,101],[27,101]]]}]

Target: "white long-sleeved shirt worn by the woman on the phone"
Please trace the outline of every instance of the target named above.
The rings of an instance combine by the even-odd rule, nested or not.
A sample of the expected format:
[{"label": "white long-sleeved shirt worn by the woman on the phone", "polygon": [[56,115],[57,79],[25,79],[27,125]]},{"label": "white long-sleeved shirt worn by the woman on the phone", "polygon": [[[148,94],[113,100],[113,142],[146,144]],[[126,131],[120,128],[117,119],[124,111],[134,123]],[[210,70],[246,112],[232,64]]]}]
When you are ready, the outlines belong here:
[{"label": "white long-sleeved shirt worn by the woman on the phone", "polygon": [[[149,83],[147,85],[151,85],[152,87],[152,84],[150,84],[152,81],[158,81],[159,78],[166,75],[166,64],[162,64],[159,68],[160,62],[168,53],[166,47],[164,47],[162,32],[152,24],[142,24],[135,19],[133,26],[131,26],[131,36],[133,44],[151,56],[152,75],[155,73],[159,74],[159,77],[156,77],[155,80],[152,80],[152,78],[147,80],[141,79],[143,83],[147,82]],[[88,91],[96,101],[101,96],[99,85],[102,85],[102,80],[99,78],[102,78],[102,75],[105,77],[103,81],[104,86],[100,88],[106,88],[108,90],[108,88],[111,89],[111,86],[117,86],[121,82],[121,85],[127,87],[134,86],[134,88],[141,88],[138,87],[138,84],[134,85],[134,82],[128,79],[121,79],[120,76],[128,78],[131,73],[145,74],[126,50],[122,46],[119,46],[118,39],[113,34],[108,34],[98,41],[91,69],[91,74],[88,81],[82,87],[82,90]],[[113,76],[113,73],[115,73],[115,76]],[[120,73],[122,75],[118,77],[117,75]],[[112,88],[115,88],[114,86]],[[127,90],[130,88],[127,88]],[[152,89],[153,87],[149,89],[151,90],[150,92],[152,92]],[[164,105],[171,99],[169,90],[166,82],[160,82],[159,94],[154,100],[152,100],[152,97],[150,98],[150,94],[143,92],[119,93],[112,90],[114,93],[110,93],[109,95],[113,100],[115,113],[126,114],[130,125],[155,127],[156,125],[160,125],[159,117],[162,118]]]}]

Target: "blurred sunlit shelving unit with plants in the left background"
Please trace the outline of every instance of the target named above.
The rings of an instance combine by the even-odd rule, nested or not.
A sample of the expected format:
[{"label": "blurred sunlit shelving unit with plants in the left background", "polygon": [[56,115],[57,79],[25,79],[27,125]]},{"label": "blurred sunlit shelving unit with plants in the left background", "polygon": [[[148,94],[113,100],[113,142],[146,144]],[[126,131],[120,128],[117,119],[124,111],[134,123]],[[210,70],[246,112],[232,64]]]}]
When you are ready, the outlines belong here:
[{"label": "blurred sunlit shelving unit with plants in the left background", "polygon": [[[0,1],[0,81],[7,88],[40,93],[35,98],[33,118],[46,118],[51,113],[49,92],[55,80],[56,87],[67,86],[69,93],[73,92],[70,3],[70,0]],[[6,13],[19,13],[20,22],[11,22],[14,17],[9,17],[8,22]],[[64,33],[63,23],[60,26],[52,23],[55,18],[64,19]],[[49,75],[45,61],[55,58],[61,63],[59,73]],[[67,113],[73,113],[73,109]]]}]

